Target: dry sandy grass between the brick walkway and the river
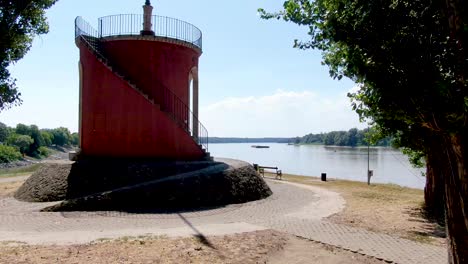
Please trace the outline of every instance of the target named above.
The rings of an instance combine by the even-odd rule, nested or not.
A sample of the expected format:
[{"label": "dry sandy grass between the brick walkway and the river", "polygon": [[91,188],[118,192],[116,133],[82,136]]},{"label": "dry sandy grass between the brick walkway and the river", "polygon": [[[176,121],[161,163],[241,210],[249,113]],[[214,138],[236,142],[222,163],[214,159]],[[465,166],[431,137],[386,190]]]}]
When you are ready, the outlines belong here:
[{"label": "dry sandy grass between the brick walkway and the river", "polygon": [[[269,175],[267,175],[269,176]],[[273,176],[273,175],[270,175]],[[436,246],[446,244],[445,228],[425,219],[421,213],[422,190],[397,185],[379,185],[285,175],[292,182],[326,188],[341,194],[345,209],[328,219],[334,223],[396,235]]]}]

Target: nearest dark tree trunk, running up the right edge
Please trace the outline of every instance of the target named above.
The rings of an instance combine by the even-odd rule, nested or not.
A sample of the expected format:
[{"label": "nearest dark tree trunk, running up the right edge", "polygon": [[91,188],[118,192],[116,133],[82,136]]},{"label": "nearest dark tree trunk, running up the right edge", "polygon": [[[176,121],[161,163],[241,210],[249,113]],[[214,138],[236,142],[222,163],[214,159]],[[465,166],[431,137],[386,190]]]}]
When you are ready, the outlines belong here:
[{"label": "nearest dark tree trunk, running up the right edge", "polygon": [[[445,0],[443,10],[448,19],[451,45],[454,45],[451,49],[451,52],[454,52],[452,63],[455,75],[452,81],[455,81],[457,88],[452,91],[454,98],[466,98],[466,8],[463,0]],[[448,165],[452,172],[444,177],[449,263],[456,264],[468,263],[468,130],[466,108],[461,109],[465,113],[461,116],[464,123],[460,124],[459,134],[451,135],[445,141]]]}]

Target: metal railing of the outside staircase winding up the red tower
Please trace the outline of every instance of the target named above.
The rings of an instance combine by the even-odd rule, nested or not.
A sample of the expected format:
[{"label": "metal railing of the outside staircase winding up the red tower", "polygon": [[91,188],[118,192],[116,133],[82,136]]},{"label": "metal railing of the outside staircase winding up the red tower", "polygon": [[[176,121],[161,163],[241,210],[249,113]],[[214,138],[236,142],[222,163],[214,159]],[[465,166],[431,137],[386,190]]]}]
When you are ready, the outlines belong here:
[{"label": "metal railing of the outside staircase winding up the red tower", "polygon": [[[109,63],[109,59],[104,55],[105,52],[102,50],[100,33],[95,30],[88,22],[83,18],[77,17],[75,19],[75,39],[80,38],[81,41],[86,43],[93,52]],[[200,42],[201,43],[201,42]],[[115,65],[111,65],[120,75],[123,72],[116,69]],[[170,116],[184,128],[192,138],[201,145],[206,151],[208,151],[208,130],[198,120],[198,117],[193,114],[187,104],[184,103],[171,89],[164,86],[162,83],[158,83],[160,89],[157,93],[158,98],[154,98],[155,102],[160,105],[161,110],[170,114]],[[192,121],[192,122],[191,122]],[[198,128],[198,130],[194,128]],[[196,132],[197,135],[194,135]]]}]

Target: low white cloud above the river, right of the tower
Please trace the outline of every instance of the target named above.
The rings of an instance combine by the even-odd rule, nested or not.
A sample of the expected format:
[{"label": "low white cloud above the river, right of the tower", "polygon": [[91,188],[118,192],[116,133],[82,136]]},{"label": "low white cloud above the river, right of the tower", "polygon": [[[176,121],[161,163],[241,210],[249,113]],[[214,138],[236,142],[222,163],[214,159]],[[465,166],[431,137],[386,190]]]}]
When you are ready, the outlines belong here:
[{"label": "low white cloud above the river, right of the tower", "polygon": [[290,137],[366,127],[346,94],[327,98],[310,91],[226,98],[202,107],[200,118],[210,136],[221,137]]}]

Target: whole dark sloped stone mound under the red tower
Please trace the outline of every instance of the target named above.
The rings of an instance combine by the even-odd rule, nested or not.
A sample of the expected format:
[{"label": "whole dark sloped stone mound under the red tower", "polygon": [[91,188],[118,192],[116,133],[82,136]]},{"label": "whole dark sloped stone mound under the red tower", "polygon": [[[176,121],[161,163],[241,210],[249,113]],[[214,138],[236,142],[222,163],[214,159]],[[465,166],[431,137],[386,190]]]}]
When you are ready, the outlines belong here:
[{"label": "whole dark sloped stone mound under the red tower", "polygon": [[44,211],[196,210],[272,194],[252,165],[215,161],[79,160],[45,164],[15,194],[27,202],[59,201]]}]

